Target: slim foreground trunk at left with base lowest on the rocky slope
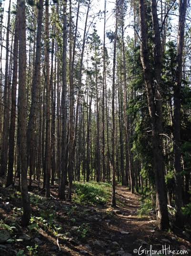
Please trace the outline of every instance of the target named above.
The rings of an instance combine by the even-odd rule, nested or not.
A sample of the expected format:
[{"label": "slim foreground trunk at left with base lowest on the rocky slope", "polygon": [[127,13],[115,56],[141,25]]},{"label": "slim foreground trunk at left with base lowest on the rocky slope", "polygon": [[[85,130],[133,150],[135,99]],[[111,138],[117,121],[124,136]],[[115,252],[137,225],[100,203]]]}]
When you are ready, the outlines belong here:
[{"label": "slim foreground trunk at left with base lowest on the rocky slope", "polygon": [[27,116],[26,116],[26,16],[25,1],[19,0],[19,129],[20,129],[20,163],[21,163],[21,194],[23,201],[22,225],[30,221],[30,199],[27,187]]}]

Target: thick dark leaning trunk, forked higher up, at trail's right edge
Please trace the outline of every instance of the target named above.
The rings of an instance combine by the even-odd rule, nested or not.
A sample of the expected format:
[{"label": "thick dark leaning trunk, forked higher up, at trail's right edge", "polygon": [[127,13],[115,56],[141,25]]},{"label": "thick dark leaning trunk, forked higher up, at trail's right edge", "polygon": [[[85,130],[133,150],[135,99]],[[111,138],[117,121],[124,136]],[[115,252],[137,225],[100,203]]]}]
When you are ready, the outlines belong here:
[{"label": "thick dark leaning trunk, forked higher up, at trail's right edge", "polygon": [[[152,1],[152,14],[156,15],[156,8],[153,6],[155,3]],[[155,91],[153,89],[153,81],[151,75],[151,66],[149,59],[149,51],[147,45],[147,27],[145,18],[145,2],[140,0],[140,17],[141,17],[141,63],[144,72],[145,86],[147,92],[147,100],[149,105],[149,113],[151,117],[152,126],[152,153],[153,153],[153,168],[155,172],[155,183],[156,183],[156,216],[159,229],[167,229],[169,227],[169,217],[167,210],[167,193],[164,181],[164,159],[162,154],[162,143],[161,143],[161,133],[162,133],[162,119],[161,119],[161,91],[160,84],[156,81]],[[158,19],[158,18],[157,18]],[[158,31],[155,31],[158,24],[153,22],[155,40],[158,40]],[[159,44],[158,41],[155,44]],[[156,51],[160,51],[159,48]],[[158,53],[160,54],[160,52]],[[159,56],[160,58],[160,56]],[[156,60],[158,62],[159,59]],[[160,63],[156,64],[156,68],[159,68]],[[158,72],[158,70],[156,71]],[[158,78],[156,75],[156,79]],[[160,81],[159,81],[160,83]],[[153,94],[155,93],[155,94]]]}]

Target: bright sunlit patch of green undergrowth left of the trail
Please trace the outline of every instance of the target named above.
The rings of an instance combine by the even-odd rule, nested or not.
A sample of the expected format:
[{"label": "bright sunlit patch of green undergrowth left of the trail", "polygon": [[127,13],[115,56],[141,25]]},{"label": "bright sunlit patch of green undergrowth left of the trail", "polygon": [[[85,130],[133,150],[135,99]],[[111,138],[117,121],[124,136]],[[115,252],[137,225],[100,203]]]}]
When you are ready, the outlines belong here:
[{"label": "bright sunlit patch of green undergrowth left of the trail", "polygon": [[106,205],[111,198],[111,184],[74,182],[73,201],[82,205]]}]

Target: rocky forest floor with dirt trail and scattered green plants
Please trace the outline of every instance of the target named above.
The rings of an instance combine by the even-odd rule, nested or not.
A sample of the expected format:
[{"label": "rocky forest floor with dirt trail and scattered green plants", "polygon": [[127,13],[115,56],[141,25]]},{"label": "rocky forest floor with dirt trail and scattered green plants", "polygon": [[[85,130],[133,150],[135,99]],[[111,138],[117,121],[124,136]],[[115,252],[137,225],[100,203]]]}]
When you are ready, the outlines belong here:
[{"label": "rocky forest floor with dirt trail and scattered green plants", "polygon": [[[170,248],[187,250],[181,255],[191,256],[189,230],[159,231],[152,211],[149,216],[138,214],[140,195],[132,195],[118,185],[117,208],[112,209],[110,184],[91,182],[88,186],[74,184],[74,200],[68,202],[57,199],[58,186],[51,188],[51,198],[47,199],[34,182],[30,191],[32,217],[27,229],[20,226],[20,192],[0,188],[0,256],[147,256],[152,255],[146,251],[151,246],[159,252],[166,246],[163,255],[172,255],[167,251]],[[95,201],[81,203],[96,193]]]}]

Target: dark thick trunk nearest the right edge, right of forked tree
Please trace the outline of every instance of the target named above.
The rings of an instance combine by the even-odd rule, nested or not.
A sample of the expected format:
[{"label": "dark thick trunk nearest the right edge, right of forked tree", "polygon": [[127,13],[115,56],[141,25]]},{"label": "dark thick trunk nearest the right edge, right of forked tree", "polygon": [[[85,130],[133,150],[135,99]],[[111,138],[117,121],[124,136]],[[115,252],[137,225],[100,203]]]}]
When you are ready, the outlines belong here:
[{"label": "dark thick trunk nearest the right edge, right of forked tree", "polygon": [[175,204],[176,225],[183,227],[184,217],[181,211],[183,206],[181,176],[181,82],[182,82],[182,55],[184,45],[184,27],[187,9],[187,0],[179,0],[179,25],[177,41],[176,78],[174,86],[174,170],[175,170]]}]

